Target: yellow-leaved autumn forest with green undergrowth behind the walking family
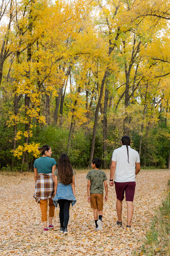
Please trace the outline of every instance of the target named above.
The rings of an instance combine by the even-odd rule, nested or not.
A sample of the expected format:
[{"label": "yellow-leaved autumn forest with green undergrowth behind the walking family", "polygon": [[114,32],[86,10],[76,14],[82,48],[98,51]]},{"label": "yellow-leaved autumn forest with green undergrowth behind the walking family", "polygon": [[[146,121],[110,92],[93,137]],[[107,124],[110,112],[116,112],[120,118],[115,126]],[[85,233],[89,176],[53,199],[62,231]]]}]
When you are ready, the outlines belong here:
[{"label": "yellow-leaved autumn forest with green undergrowth behind the walking family", "polygon": [[170,168],[170,1],[0,0],[0,124],[3,170],[108,169],[123,135]]}]

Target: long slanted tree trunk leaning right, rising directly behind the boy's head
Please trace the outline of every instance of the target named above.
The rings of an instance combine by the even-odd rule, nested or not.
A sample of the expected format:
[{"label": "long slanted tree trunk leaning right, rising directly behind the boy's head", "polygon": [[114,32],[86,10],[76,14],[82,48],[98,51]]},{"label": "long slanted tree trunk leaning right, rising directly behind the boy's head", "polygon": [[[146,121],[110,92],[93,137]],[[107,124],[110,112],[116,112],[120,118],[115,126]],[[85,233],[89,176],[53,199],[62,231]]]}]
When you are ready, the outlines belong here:
[{"label": "long slanted tree trunk leaning right, rising directly behind the boy's head", "polygon": [[93,135],[92,135],[92,142],[91,142],[91,152],[90,152],[90,158],[89,158],[89,169],[91,168],[91,161],[93,159],[93,155],[94,155],[94,151],[95,151],[95,139],[96,139],[96,129],[97,129],[97,122],[98,122],[98,114],[99,114],[99,108],[100,108],[100,104],[101,104],[101,100],[102,100],[102,96],[103,96],[103,89],[104,89],[104,83],[106,80],[106,77],[108,75],[108,70],[106,69],[104,76],[103,76],[103,80],[101,83],[101,88],[100,88],[100,96],[99,96],[99,100],[98,100],[98,104],[97,104],[97,108],[96,108],[96,112],[95,112],[95,122],[94,122],[94,127],[93,127]]}]

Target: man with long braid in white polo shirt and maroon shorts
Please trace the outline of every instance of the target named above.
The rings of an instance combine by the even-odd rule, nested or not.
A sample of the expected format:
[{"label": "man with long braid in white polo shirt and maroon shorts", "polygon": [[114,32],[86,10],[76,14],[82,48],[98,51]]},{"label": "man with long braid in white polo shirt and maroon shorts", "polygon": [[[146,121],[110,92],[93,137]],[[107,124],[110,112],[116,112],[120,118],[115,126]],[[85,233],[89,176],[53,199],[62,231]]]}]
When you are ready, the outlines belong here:
[{"label": "man with long braid in white polo shirt and maroon shorts", "polygon": [[[114,186],[116,190],[116,210],[118,215],[117,224],[122,226],[122,201],[124,192],[127,203],[127,225],[131,228],[133,217],[133,198],[135,194],[135,177],[140,171],[140,158],[136,150],[130,147],[131,139],[129,136],[123,136],[121,139],[122,146],[114,150],[112,155],[112,164],[110,171],[110,186]],[[115,174],[115,182],[113,176]]]}]

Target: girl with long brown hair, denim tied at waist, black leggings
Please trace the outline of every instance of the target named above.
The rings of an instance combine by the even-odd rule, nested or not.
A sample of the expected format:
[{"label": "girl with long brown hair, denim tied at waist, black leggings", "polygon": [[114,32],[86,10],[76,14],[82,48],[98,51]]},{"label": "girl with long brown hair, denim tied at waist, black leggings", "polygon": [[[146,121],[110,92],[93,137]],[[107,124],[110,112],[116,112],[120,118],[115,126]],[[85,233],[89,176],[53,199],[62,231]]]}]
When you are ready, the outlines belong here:
[{"label": "girl with long brown hair, denim tied at waist, black leggings", "polygon": [[75,171],[67,154],[62,154],[58,160],[58,168],[54,171],[54,205],[60,206],[60,231],[67,234],[70,203],[75,204]]}]

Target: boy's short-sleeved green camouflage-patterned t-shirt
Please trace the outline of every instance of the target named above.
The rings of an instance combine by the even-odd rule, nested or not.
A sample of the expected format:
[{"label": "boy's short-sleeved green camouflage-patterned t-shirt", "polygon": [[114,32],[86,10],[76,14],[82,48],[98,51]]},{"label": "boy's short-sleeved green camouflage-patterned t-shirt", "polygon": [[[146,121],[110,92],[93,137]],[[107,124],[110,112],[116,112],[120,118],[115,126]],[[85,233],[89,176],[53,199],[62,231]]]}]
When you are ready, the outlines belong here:
[{"label": "boy's short-sleeved green camouflage-patterned t-shirt", "polygon": [[107,180],[102,170],[91,170],[87,173],[87,180],[90,180],[90,194],[103,194],[103,182]]}]

